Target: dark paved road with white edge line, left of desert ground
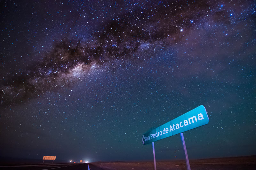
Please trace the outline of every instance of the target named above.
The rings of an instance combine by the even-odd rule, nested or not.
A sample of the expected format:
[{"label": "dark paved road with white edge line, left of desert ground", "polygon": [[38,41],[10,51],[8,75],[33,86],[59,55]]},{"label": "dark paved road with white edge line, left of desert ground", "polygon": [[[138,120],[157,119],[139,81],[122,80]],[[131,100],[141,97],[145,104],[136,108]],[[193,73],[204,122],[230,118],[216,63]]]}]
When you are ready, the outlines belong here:
[{"label": "dark paved road with white edge line, left of desert ground", "polygon": [[[94,170],[91,168],[90,170]],[[22,165],[22,166],[0,166],[0,169],[6,170],[88,170],[86,163],[72,163],[72,164],[41,164],[41,165]],[[101,169],[95,169],[101,170]]]}]

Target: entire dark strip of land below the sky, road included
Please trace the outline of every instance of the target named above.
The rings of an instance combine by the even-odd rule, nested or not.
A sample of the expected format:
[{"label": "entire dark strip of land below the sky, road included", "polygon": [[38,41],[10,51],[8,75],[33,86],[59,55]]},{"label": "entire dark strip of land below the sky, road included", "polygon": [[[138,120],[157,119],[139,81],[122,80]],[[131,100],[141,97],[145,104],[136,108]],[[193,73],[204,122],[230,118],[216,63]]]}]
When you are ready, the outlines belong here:
[{"label": "entire dark strip of land below the sky, road included", "polygon": [[[9,170],[30,170],[30,169],[59,169],[59,170],[79,170],[86,169],[87,164],[82,163],[65,163],[65,164],[33,164],[31,162],[12,162],[0,166],[0,169]],[[57,161],[56,161],[57,162]],[[243,169],[243,170],[255,170],[256,169],[256,155],[255,156],[244,156],[244,157],[228,157],[228,158],[211,158],[211,159],[191,159],[189,160],[191,170],[232,170],[232,169]],[[8,165],[8,166],[7,166]],[[89,163],[90,170],[153,170],[154,162],[152,161],[116,161],[116,162],[93,162]],[[157,170],[186,170],[185,160],[170,160],[170,161],[156,161]]]}]

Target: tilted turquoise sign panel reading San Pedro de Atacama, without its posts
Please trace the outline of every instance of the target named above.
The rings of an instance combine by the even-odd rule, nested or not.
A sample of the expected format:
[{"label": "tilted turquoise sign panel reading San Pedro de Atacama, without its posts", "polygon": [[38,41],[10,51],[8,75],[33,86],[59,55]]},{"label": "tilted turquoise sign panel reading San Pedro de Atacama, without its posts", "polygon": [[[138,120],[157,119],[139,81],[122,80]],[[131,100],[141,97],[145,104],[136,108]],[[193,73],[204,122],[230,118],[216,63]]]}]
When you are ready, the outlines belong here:
[{"label": "tilted turquoise sign panel reading San Pedro de Atacama, without its posts", "polygon": [[148,131],[142,137],[143,145],[155,142],[203,126],[209,123],[209,117],[203,105],[167,122],[153,130]]}]

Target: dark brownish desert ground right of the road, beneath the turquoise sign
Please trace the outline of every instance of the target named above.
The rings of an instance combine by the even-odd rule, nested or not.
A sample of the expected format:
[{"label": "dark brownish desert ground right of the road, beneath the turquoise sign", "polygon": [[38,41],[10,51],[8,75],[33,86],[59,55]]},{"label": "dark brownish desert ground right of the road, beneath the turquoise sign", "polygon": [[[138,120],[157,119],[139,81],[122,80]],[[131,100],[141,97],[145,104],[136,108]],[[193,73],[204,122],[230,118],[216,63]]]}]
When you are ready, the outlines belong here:
[{"label": "dark brownish desert ground right of the road, beneath the turquoise sign", "polygon": [[[255,170],[256,156],[246,157],[229,157],[229,158],[212,158],[189,160],[191,170]],[[90,163],[99,169],[104,170],[154,170],[154,162],[94,162]],[[90,165],[89,164],[89,165]],[[185,160],[175,161],[156,161],[157,170],[186,170]]]}]

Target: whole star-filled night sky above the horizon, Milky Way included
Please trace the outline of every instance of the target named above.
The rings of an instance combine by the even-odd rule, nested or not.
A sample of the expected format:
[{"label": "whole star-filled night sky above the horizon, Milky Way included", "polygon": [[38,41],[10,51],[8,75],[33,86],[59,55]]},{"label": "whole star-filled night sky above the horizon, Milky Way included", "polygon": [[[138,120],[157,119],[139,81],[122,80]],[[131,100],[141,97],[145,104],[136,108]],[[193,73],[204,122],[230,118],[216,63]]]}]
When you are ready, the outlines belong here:
[{"label": "whole star-filled night sky above the horizon, Milky Way included", "polygon": [[1,156],[152,160],[142,135],[199,105],[189,159],[255,155],[255,1],[0,2]]}]

